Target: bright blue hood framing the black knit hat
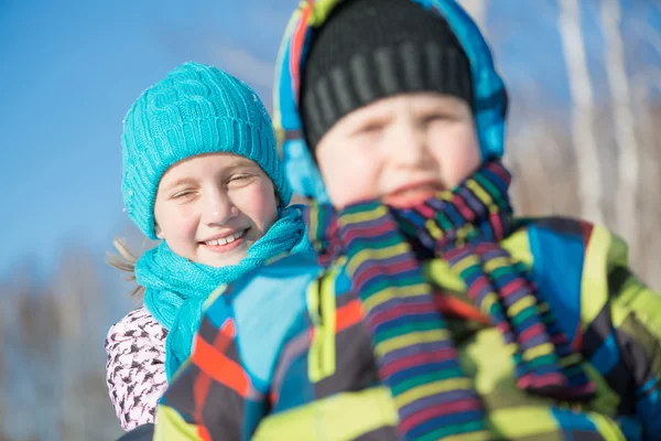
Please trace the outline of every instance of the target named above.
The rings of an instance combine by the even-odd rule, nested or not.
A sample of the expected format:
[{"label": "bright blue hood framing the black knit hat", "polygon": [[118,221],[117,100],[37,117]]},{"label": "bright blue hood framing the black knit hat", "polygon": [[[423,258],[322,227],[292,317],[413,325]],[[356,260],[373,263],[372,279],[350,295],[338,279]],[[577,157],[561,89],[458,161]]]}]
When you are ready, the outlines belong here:
[{"label": "bright blue hood framing the black knit hat", "polygon": [[[321,173],[305,143],[299,115],[303,61],[313,30],[319,28],[342,1],[302,1],[286,28],[275,66],[274,118],[278,147],[294,193],[329,202]],[[410,0],[442,14],[464,47],[474,83],[475,125],[483,159],[500,158],[505,148],[507,93],[496,72],[491,52],[479,29],[454,0]]]}]

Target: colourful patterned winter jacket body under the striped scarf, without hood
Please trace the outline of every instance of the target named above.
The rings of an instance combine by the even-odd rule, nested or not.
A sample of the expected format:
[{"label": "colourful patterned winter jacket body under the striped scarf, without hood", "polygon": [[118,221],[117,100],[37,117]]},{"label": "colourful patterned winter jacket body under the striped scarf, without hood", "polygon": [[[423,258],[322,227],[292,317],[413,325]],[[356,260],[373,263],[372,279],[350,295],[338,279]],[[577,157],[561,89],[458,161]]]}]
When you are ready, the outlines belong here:
[{"label": "colourful patterned winter jacket body under the striped scarf, without hood", "polygon": [[[502,246],[529,267],[597,396],[572,405],[519,390],[501,335],[466,308],[451,330],[494,439],[661,439],[661,297],[630,272],[626,245],[603,227],[546,218]],[[155,439],[397,440],[343,265],[326,271],[313,254],[289,256],[210,299]],[[444,261],[424,268],[440,308],[447,297],[470,304]]]}]

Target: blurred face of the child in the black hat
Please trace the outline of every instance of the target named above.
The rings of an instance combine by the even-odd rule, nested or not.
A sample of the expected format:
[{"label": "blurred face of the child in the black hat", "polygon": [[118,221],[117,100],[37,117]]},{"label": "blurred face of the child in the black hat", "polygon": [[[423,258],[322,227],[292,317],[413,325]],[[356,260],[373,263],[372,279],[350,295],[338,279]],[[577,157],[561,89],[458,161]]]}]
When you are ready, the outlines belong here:
[{"label": "blurred face of the child in the black hat", "polygon": [[411,206],[453,189],[481,162],[470,107],[435,93],[354,110],[324,135],[315,154],[336,208],[371,198]]}]

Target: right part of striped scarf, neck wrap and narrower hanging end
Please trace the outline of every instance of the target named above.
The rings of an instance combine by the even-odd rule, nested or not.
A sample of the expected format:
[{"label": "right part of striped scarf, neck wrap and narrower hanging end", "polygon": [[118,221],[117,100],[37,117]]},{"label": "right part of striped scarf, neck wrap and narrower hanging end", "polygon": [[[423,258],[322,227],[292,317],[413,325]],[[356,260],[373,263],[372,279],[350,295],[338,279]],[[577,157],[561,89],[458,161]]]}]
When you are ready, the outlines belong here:
[{"label": "right part of striped scarf, neck wrap and narrower hanging end", "polygon": [[590,399],[595,388],[582,357],[534,295],[524,266],[498,245],[512,230],[510,182],[499,162],[489,162],[452,193],[394,214],[414,239],[449,262],[475,305],[500,329],[514,352],[520,388],[562,400]]}]

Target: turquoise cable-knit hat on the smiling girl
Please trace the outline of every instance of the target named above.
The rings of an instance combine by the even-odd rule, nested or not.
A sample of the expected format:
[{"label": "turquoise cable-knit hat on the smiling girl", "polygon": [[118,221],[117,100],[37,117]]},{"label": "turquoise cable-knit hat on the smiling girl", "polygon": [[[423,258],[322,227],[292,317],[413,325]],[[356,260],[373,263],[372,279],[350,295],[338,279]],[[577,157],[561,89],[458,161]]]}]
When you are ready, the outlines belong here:
[{"label": "turquoise cable-knit hat on the smiling girl", "polygon": [[122,194],[129,217],[155,239],[154,201],[161,176],[186,158],[228,152],[257,162],[281,206],[292,191],[278,158],[271,118],[241,80],[210,66],[185,63],[142,93],[123,121]]}]

